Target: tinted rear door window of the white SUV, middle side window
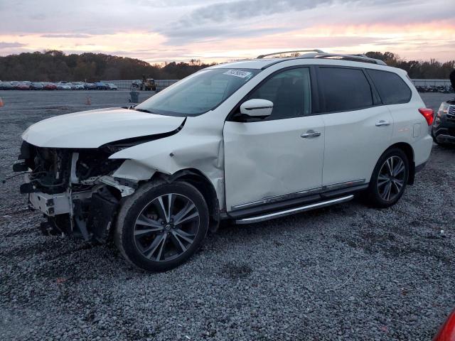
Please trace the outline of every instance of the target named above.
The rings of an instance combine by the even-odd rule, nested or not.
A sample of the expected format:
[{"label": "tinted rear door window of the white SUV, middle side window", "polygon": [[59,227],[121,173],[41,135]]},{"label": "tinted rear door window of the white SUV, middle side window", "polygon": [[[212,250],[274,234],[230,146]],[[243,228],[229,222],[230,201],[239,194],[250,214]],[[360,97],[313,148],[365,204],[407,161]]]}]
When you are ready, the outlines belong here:
[{"label": "tinted rear door window of the white SUV, middle side window", "polygon": [[319,67],[326,112],[347,112],[373,105],[370,83],[362,70]]}]

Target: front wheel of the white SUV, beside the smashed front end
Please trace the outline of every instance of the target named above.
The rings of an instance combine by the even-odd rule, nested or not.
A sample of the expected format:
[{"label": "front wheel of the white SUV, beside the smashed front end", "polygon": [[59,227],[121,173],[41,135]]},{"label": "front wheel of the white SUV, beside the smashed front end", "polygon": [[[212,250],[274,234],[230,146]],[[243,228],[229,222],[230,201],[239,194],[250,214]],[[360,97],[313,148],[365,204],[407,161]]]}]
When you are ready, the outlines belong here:
[{"label": "front wheel of the white SUV, beside the smashed front end", "polygon": [[114,242],[129,263],[145,271],[167,271],[183,264],[200,247],[209,214],[192,185],[147,183],[122,204]]}]

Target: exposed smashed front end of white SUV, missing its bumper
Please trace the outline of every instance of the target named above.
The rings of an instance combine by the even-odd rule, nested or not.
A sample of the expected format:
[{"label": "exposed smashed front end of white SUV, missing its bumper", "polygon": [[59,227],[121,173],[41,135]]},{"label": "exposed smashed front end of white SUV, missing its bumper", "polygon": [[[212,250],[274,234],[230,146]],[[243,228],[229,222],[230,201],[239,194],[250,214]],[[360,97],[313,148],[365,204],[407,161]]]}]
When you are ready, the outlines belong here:
[{"label": "exposed smashed front end of white SUV, missing its bumper", "polygon": [[42,148],[23,141],[14,171],[26,171],[21,193],[47,217],[43,232],[107,241],[120,200],[138,185],[112,176],[124,162],[109,159],[112,153],[110,146]]}]

